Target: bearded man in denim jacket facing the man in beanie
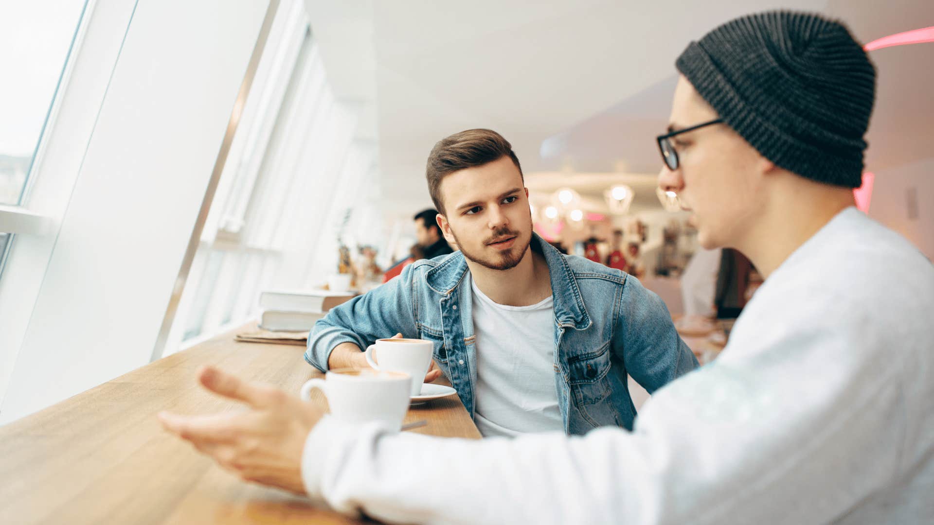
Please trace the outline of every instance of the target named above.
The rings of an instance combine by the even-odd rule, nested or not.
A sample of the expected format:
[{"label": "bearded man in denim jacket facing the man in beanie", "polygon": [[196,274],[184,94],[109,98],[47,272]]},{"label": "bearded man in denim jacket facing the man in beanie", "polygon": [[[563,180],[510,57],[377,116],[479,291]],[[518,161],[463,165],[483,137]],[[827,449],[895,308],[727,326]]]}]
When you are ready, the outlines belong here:
[{"label": "bearded man in denim jacket facing the man in beanie", "polygon": [[425,380],[444,373],[484,435],[631,430],[627,374],[651,393],[698,366],[658,295],[532,233],[528,190],[501,135],[441,140],[427,177],[460,251],[333,308],[308,337],[307,362],[365,368],[361,348],[376,339],[430,340],[440,372]]}]

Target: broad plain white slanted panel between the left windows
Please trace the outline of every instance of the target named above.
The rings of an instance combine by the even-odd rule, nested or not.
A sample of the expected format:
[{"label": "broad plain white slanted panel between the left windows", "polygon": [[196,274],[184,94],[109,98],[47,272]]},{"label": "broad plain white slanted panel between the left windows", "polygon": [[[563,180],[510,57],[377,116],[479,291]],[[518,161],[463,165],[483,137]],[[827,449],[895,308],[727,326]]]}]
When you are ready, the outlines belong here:
[{"label": "broad plain white slanted panel between the left windows", "polygon": [[0,422],[149,362],[267,4],[136,6]]}]

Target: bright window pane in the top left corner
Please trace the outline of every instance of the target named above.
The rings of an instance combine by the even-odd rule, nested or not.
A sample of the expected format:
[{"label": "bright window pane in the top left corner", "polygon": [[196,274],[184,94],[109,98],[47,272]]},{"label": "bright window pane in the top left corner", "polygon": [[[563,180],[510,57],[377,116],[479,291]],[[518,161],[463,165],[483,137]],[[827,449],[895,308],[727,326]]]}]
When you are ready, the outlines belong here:
[{"label": "bright window pane in the top left corner", "polygon": [[0,3],[0,205],[20,204],[84,7],[76,0]]}]

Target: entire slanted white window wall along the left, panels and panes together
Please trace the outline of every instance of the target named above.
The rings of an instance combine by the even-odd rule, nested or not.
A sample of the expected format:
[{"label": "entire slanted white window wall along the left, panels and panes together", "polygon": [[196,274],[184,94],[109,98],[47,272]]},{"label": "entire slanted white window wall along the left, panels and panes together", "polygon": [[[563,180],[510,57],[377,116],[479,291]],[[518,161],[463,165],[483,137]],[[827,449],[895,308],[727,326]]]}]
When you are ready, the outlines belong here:
[{"label": "entire slanted white window wall along the left, panels and panes together", "polygon": [[242,324],[262,289],[324,282],[336,232],[378,231],[375,146],[303,0],[139,4],[0,2],[0,144],[25,145],[0,154],[26,159],[0,164],[0,424]]}]

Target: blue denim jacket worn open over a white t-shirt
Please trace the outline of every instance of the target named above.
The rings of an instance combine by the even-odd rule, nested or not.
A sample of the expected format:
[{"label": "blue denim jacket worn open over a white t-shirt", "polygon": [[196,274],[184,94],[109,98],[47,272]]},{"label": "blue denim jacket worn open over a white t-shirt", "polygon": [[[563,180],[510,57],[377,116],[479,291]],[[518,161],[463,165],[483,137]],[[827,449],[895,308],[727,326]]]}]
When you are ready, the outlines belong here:
[{"label": "blue denim jacket worn open over a white t-shirt", "polygon": [[[602,425],[632,429],[627,374],[649,393],[698,366],[668,308],[638,279],[567,256],[532,234],[548,265],[555,309],[555,389],[565,433]],[[340,343],[360,348],[403,337],[434,343],[438,363],[474,416],[476,352],[472,290],[463,254],[422,260],[383,286],[334,307],[308,336],[305,361],[321,371]],[[414,378],[420,380],[419,377]]]}]

